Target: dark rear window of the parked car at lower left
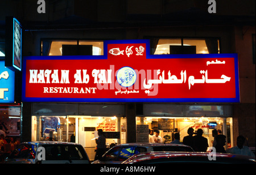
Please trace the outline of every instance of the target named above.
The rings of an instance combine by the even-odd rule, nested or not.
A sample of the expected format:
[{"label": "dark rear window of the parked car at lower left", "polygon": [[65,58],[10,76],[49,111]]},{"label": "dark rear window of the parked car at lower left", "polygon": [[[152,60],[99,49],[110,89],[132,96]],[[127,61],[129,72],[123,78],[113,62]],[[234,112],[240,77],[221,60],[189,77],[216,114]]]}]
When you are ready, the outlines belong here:
[{"label": "dark rear window of the parked car at lower left", "polygon": [[44,145],[46,160],[88,160],[84,149],[76,145]]}]

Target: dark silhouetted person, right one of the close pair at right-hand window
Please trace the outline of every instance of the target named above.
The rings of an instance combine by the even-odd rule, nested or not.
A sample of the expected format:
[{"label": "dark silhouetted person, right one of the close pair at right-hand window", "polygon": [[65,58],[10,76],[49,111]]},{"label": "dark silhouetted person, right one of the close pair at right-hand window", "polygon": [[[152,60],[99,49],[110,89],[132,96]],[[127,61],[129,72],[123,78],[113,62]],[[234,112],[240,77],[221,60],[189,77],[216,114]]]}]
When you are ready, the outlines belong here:
[{"label": "dark silhouetted person, right one of the close pair at right-hand window", "polygon": [[208,147],[208,140],[203,136],[203,130],[198,129],[197,134],[193,136],[193,150],[198,152],[206,152]]}]

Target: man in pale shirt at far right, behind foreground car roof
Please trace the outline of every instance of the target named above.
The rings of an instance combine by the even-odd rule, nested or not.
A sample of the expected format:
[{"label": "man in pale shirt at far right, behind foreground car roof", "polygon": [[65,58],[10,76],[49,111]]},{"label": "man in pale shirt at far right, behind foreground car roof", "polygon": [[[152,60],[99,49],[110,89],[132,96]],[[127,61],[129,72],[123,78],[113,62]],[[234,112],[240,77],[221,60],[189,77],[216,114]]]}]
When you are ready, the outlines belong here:
[{"label": "man in pale shirt at far right, behind foreground car roof", "polygon": [[244,143],[245,138],[242,135],[240,135],[237,137],[237,146],[226,150],[226,152],[255,157],[254,153],[250,150],[249,147],[243,146]]}]

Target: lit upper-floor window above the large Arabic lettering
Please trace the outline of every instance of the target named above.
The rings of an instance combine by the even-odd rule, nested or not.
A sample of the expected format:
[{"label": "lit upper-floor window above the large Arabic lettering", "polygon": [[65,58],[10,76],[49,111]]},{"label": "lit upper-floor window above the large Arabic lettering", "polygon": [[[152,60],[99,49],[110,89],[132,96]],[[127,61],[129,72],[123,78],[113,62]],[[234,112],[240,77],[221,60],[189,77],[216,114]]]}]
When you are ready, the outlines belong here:
[{"label": "lit upper-floor window above the large Arabic lettering", "polygon": [[154,39],[151,42],[151,54],[220,53],[218,39]]}]

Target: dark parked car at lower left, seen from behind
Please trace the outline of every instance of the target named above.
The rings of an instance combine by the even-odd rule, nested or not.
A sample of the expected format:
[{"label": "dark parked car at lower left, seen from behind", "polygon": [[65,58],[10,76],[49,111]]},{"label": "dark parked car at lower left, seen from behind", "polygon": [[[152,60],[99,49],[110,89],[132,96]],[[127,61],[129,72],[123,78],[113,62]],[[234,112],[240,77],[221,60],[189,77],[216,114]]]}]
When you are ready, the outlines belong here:
[{"label": "dark parked car at lower left, seen from behind", "polygon": [[24,142],[5,159],[6,164],[89,164],[84,147],[69,142]]}]

